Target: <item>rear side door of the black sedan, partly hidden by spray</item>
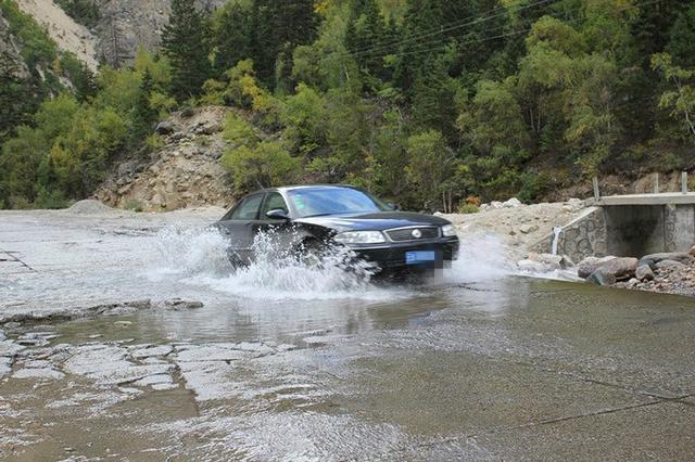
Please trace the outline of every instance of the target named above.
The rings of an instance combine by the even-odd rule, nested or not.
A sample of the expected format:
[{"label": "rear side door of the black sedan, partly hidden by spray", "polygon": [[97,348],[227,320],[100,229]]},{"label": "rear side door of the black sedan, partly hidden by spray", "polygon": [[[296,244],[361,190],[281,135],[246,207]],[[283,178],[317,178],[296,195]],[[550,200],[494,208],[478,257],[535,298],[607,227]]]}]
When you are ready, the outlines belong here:
[{"label": "rear side door of the black sedan, partly hidden by spray", "polygon": [[230,249],[242,261],[251,257],[251,247],[258,226],[258,214],[265,193],[251,194],[229,210],[218,227],[229,238]]}]

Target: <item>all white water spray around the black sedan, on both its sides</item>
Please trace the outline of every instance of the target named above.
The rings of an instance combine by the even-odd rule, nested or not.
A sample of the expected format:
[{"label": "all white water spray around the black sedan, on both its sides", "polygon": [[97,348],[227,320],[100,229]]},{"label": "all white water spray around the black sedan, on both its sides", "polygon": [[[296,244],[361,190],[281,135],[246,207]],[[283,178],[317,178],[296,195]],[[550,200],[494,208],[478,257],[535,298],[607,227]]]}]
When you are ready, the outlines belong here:
[{"label": "all white water spray around the black sedan, on both its sides", "polygon": [[[301,249],[278,244],[274,232],[255,236],[255,259],[233,268],[227,255],[229,241],[215,229],[168,229],[161,232],[156,246],[161,255],[159,277],[179,275],[186,284],[261,299],[369,300],[409,297],[418,288],[384,287],[372,283],[375,269],[344,246],[328,246],[320,264],[305,258]],[[508,249],[495,235],[469,235],[460,241],[459,257],[435,274],[435,283],[456,284],[493,281],[513,273]],[[421,288],[421,286],[420,286]]]}]

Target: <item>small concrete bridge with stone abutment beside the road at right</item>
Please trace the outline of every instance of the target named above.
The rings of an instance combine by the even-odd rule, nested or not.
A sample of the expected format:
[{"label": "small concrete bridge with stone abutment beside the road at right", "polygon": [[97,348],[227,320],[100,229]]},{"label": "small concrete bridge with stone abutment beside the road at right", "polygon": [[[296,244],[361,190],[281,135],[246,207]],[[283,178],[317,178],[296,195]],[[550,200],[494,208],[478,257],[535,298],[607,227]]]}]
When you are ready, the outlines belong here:
[{"label": "small concrete bridge with stone abutment beside the road at right", "polygon": [[556,248],[578,262],[587,256],[641,257],[659,252],[687,252],[695,245],[695,192],[594,197],[592,206],[570,223],[531,247]]}]

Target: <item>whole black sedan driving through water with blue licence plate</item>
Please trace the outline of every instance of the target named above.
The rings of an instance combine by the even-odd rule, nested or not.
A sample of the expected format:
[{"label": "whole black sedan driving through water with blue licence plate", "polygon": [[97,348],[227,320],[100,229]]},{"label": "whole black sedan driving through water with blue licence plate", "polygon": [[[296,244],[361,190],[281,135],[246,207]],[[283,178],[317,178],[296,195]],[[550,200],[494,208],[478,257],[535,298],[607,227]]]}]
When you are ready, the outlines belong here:
[{"label": "whole black sedan driving through water with blue licence plate", "polygon": [[381,269],[441,267],[458,253],[450,221],[397,211],[346,185],[257,191],[241,200],[216,227],[231,240],[230,257],[236,264],[253,260],[254,240],[268,231],[286,248],[320,252],[328,245],[344,245]]}]

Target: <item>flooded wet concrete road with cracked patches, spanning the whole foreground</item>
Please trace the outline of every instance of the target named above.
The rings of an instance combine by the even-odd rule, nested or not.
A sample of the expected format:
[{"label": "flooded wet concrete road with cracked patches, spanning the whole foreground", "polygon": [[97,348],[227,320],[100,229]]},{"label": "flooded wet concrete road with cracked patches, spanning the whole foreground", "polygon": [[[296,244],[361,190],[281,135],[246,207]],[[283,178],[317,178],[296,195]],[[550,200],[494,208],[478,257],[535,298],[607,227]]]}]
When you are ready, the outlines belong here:
[{"label": "flooded wet concrete road with cracked patches, spanning the whole foreground", "polygon": [[494,240],[374,284],[230,272],[199,216],[11,218],[2,459],[692,458],[692,298],[508,275]]}]

